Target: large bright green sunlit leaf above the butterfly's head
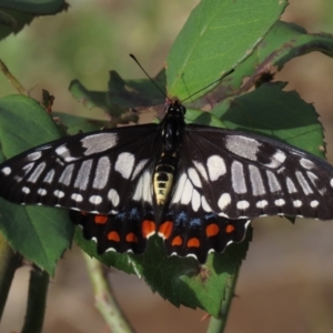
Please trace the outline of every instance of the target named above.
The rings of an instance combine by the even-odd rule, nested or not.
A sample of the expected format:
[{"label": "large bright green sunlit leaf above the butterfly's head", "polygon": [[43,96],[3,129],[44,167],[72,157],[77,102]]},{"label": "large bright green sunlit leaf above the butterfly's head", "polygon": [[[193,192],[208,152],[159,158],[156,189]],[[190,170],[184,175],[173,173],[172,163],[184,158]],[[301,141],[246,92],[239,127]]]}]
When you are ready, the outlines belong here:
[{"label": "large bright green sunlit leaf above the butterfly's head", "polygon": [[168,57],[169,94],[184,99],[235,68],[252,53],[285,6],[285,0],[201,1]]}]

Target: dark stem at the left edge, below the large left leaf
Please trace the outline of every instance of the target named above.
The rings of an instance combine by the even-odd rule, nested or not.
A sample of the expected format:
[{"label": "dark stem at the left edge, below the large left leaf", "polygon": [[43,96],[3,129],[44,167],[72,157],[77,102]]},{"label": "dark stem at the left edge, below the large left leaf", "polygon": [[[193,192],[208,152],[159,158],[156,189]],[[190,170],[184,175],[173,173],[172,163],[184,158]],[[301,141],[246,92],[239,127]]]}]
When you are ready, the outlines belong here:
[{"label": "dark stem at the left edge, below the large left leaf", "polygon": [[21,265],[21,255],[13,252],[0,232],[0,320],[16,270]]}]

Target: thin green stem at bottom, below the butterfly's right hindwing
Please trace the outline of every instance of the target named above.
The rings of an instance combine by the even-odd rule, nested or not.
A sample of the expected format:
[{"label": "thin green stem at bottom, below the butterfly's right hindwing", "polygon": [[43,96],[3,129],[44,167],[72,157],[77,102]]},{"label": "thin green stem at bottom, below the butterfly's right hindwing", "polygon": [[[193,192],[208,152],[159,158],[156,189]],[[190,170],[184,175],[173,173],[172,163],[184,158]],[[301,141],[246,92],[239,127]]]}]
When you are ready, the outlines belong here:
[{"label": "thin green stem at bottom, below the butterfly's right hindwing", "polygon": [[234,297],[234,290],[239,278],[240,268],[236,270],[233,279],[231,280],[230,287],[225,289],[225,299],[221,304],[220,319],[211,317],[210,325],[208,327],[208,333],[223,333],[226,320],[231,306],[231,302]]}]

